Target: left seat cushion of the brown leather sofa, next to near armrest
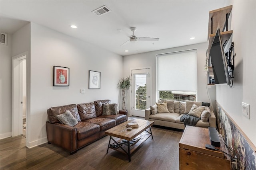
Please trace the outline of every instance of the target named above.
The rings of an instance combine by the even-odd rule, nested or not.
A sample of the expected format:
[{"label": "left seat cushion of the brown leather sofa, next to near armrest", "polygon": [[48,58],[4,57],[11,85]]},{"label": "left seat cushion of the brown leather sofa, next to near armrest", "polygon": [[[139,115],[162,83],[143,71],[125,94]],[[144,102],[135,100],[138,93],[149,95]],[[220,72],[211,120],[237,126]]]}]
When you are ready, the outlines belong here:
[{"label": "left seat cushion of the brown leather sofa, next to near armrest", "polygon": [[100,125],[90,122],[80,121],[75,127],[77,129],[78,141],[91,135],[94,135],[97,132],[100,132]]}]

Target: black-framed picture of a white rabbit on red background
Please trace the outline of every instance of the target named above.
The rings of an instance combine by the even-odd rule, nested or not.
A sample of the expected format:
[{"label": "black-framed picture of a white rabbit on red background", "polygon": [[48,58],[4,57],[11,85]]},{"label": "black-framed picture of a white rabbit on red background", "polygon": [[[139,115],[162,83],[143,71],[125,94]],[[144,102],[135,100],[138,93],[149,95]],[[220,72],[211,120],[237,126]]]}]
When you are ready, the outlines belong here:
[{"label": "black-framed picture of a white rabbit on red background", "polygon": [[69,86],[69,68],[53,66],[53,86]]}]

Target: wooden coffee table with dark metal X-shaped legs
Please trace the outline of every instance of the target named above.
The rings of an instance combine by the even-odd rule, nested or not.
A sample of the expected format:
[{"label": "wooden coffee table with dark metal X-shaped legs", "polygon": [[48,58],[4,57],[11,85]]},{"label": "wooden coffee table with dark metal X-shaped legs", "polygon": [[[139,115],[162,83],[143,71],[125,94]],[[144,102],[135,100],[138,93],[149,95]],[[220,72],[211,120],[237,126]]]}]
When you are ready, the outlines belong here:
[{"label": "wooden coffee table with dark metal X-shaped legs", "polygon": [[[127,123],[136,122],[139,127],[133,128],[128,131],[126,128]],[[106,135],[110,135],[108,142],[108,149],[114,149],[128,154],[129,162],[131,162],[131,153],[134,152],[144,141],[150,136],[153,139],[151,126],[154,121],[142,120],[142,119],[130,119],[120,125],[117,125],[111,129],[105,131]],[[147,129],[150,129],[150,132]],[[116,137],[116,138],[113,138]],[[135,140],[136,139],[136,140]],[[110,143],[112,141],[112,143]],[[108,150],[107,150],[108,153]]]}]

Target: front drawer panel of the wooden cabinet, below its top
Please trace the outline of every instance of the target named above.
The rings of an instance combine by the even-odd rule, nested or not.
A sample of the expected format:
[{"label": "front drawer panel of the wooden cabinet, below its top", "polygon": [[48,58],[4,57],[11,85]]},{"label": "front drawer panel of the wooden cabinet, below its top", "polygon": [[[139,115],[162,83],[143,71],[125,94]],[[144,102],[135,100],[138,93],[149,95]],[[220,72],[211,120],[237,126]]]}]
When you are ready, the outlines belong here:
[{"label": "front drawer panel of the wooden cabinet, below its top", "polygon": [[180,148],[180,170],[231,170],[231,160]]}]

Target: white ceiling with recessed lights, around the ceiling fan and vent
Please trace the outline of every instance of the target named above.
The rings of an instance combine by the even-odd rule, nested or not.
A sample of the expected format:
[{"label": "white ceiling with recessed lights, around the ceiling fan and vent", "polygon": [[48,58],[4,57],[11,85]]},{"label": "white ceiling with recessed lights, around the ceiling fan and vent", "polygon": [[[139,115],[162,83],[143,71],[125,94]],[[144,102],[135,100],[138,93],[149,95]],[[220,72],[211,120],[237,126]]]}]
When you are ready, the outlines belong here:
[{"label": "white ceiling with recessed lights, around the ceiling fan and vent", "polygon": [[[12,34],[30,21],[125,56],[206,42],[209,11],[228,3],[224,0],[1,0],[0,31]],[[102,16],[92,13],[103,5],[112,12]],[[78,28],[70,28],[72,24]],[[132,35],[130,27],[137,27],[134,32],[137,37],[160,39],[138,41],[138,51],[136,43],[120,46],[129,39],[127,35]]]}]

